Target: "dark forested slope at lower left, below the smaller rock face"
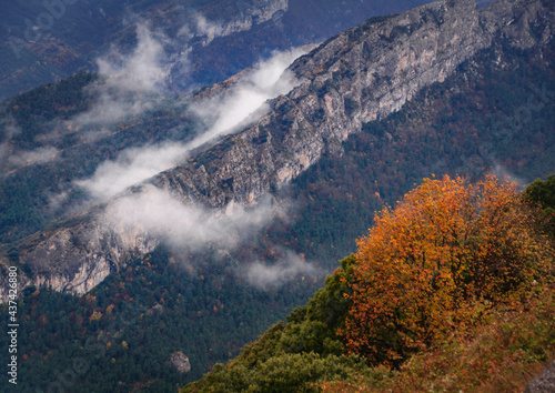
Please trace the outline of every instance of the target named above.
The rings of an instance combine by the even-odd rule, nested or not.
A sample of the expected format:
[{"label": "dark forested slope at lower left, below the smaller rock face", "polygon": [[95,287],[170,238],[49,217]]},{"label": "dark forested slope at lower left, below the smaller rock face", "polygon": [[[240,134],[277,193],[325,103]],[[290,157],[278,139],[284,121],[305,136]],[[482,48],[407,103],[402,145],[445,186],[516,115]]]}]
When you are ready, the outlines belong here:
[{"label": "dark forested slope at lower left, below the smaller rock face", "polygon": [[[299,283],[254,290],[231,266],[214,269],[212,262],[210,269],[185,271],[169,258],[160,248],[82,298],[27,289],[18,309],[18,392],[47,391],[64,380],[73,381],[65,386],[71,392],[141,385],[169,392],[235,355],[299,304],[299,290],[292,291]],[[6,349],[6,337],[1,342]],[[167,363],[175,351],[189,356],[190,373]]]}]

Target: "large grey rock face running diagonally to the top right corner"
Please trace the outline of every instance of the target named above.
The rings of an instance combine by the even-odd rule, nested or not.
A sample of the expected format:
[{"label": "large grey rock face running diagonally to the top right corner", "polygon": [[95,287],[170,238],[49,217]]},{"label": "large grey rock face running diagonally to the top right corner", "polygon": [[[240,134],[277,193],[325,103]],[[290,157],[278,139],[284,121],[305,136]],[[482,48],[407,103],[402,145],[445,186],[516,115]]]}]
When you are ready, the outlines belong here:
[{"label": "large grey rock face running diagonally to the top right corner", "polygon": [[518,48],[546,43],[554,36],[553,8],[505,0],[477,10],[474,0],[444,0],[370,20],[294,62],[290,71],[304,83],[272,100],[273,110],[260,121],[152,183],[212,208],[251,204],[336,150],[364,122],[443,82],[495,38]]}]

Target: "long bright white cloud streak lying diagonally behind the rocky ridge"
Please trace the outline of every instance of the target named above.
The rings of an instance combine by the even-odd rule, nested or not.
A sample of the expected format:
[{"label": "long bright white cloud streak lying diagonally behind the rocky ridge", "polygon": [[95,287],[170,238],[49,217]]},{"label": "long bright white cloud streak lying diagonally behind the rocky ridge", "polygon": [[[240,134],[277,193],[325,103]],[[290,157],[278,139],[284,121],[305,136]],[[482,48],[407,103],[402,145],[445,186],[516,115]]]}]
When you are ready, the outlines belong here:
[{"label": "long bright white cloud streak lying diagonally behind the rocky ridge", "polygon": [[192,149],[256,120],[264,113],[265,101],[294,87],[294,79],[284,70],[303,53],[301,50],[276,53],[241,78],[225,97],[195,102],[192,110],[203,119],[206,131],[191,142],[128,149],[115,160],[99,165],[92,178],[75,182],[77,185],[94,199],[107,201],[130,185],[175,167],[186,159]]}]

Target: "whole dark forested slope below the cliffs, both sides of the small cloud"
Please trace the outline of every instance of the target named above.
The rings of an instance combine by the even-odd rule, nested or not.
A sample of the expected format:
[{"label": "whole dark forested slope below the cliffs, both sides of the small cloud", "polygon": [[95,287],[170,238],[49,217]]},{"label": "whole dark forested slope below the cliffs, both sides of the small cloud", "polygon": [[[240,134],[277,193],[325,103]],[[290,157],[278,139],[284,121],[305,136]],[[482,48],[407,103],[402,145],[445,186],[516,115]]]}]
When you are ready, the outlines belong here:
[{"label": "whole dark forested slope below the cliffs, both sides of the small cloud", "polygon": [[[508,154],[507,150],[494,150],[496,149],[495,145],[486,144],[486,147],[491,147],[492,150],[487,152],[492,155],[480,155],[477,150],[480,147],[476,147],[475,143],[477,133],[467,135],[464,130],[471,127],[481,127],[481,138],[493,139],[493,134],[487,137],[486,124],[501,121],[506,115],[502,111],[496,113],[494,108],[503,108],[506,113],[511,113],[511,111],[515,111],[526,103],[531,93],[534,93],[529,85],[538,84],[542,87],[542,83],[547,81],[546,92],[549,92],[553,87],[553,79],[548,70],[542,70],[537,66],[526,66],[524,61],[514,62],[513,67],[496,71],[495,66],[491,66],[487,61],[494,56],[493,53],[493,51],[485,51],[482,58],[478,58],[483,59],[483,61],[476,60],[466,63],[461,68],[457,75],[445,82],[445,89],[442,85],[427,89],[398,114],[370,123],[363,133],[351,137],[343,144],[343,153],[325,155],[319,164],[299,180],[295,180],[291,190],[287,191],[302,202],[303,208],[296,214],[295,220],[275,224],[268,232],[268,236],[261,236],[261,242],[258,245],[245,246],[238,251],[226,263],[233,265],[238,263],[236,261],[248,260],[249,255],[252,254],[266,255],[268,258],[272,252],[272,243],[268,239],[273,242],[283,239],[284,245],[305,253],[309,260],[320,260],[323,264],[333,266],[335,255],[345,255],[354,250],[353,240],[363,234],[369,228],[373,211],[380,210],[382,203],[394,204],[395,200],[400,198],[397,195],[401,195],[404,190],[411,189],[413,183],[420,183],[420,175],[430,175],[433,172],[437,173],[437,175],[444,173],[442,167],[437,167],[437,163],[443,165],[443,171],[448,169],[446,172],[466,172],[470,175],[476,175],[480,171],[491,168],[494,164],[493,158],[495,157],[498,158],[500,162],[508,162],[507,158],[512,155]],[[531,69],[534,72],[531,72]],[[467,70],[474,71],[471,73]],[[488,78],[483,77],[484,73],[488,74]],[[461,83],[461,80],[465,82]],[[460,88],[455,89],[455,87]],[[497,91],[495,89],[503,90],[508,89],[508,87],[519,89],[516,90],[519,94],[513,97],[494,93]],[[495,104],[495,101],[501,98],[504,98],[506,102],[503,105]],[[491,103],[484,104],[484,102]],[[476,103],[484,105],[485,109],[481,112],[483,117],[464,115],[464,113],[472,113],[476,108]],[[452,105],[453,111],[444,110],[452,108]],[[534,150],[536,152],[545,151],[553,147],[553,142],[549,142],[553,133],[548,132],[551,129],[547,127],[548,119],[553,117],[551,111],[553,111],[553,104],[548,101],[531,119],[531,127],[521,129],[524,133],[515,133],[515,137],[523,140],[526,138],[534,141],[534,138],[537,138],[545,141],[542,144],[531,144],[529,151],[532,152]],[[456,113],[463,114],[458,115]],[[445,125],[433,128],[437,119],[442,119],[441,124]],[[411,124],[422,124],[420,129],[425,130],[425,132],[411,135],[408,133],[410,130],[413,130],[410,128]],[[430,124],[430,128],[426,128],[426,124]],[[406,131],[402,133],[403,130]],[[458,130],[458,133],[456,133],[456,130]],[[443,134],[436,133],[438,131],[448,132],[452,135],[451,138],[458,135],[463,143],[426,143],[426,141],[445,138]],[[393,134],[396,137],[390,139],[386,132],[392,137]],[[433,135],[432,132],[434,132]],[[529,134],[526,132],[529,132]],[[403,135],[406,137],[402,138]],[[410,139],[406,140],[406,138]],[[518,145],[525,147],[527,144],[517,144],[511,137],[502,147],[512,147],[516,154],[531,154],[527,153],[527,149],[517,149]],[[451,155],[443,155],[443,159],[442,155],[434,155],[437,154],[434,147],[441,149],[442,154],[446,154],[444,149],[454,150],[453,155],[456,159],[448,160],[447,157]],[[422,154],[411,153],[410,155],[408,152],[413,152],[415,149],[421,149]],[[430,158],[426,154],[430,154]],[[415,161],[412,161],[416,158],[422,167],[414,164]],[[482,161],[478,158],[482,158]],[[541,175],[541,168],[538,168],[541,165],[535,164],[535,162],[542,159],[548,163],[548,160],[553,159],[553,154],[536,154],[534,159],[528,159],[529,164],[521,167],[518,167],[517,162],[512,162],[508,169],[514,170],[524,179],[533,179]],[[376,168],[376,165],[382,167]],[[196,258],[201,256],[198,255]],[[349,271],[352,261],[352,259],[345,260],[343,269]],[[50,293],[49,291],[40,291],[33,296],[32,291],[28,291],[26,296],[28,300],[24,302],[26,306],[22,309],[22,314],[29,315],[29,325],[26,325],[24,331],[28,333],[33,332],[33,334],[32,337],[29,336],[29,340],[23,340],[29,345],[22,349],[23,353],[28,355],[22,363],[22,370],[26,374],[37,375],[37,379],[28,380],[29,385],[43,386],[46,384],[48,386],[48,383],[56,382],[56,376],[49,376],[52,375],[52,373],[49,373],[50,369],[43,369],[43,356],[49,352],[51,354],[48,364],[52,371],[63,370],[65,354],[71,353],[71,356],[85,355],[85,359],[90,359],[91,364],[94,364],[94,370],[102,372],[103,375],[112,375],[104,380],[113,381],[113,383],[121,381],[121,379],[118,379],[118,381],[112,380],[117,375],[117,373],[112,373],[112,370],[114,370],[111,363],[112,357],[117,359],[117,362],[120,362],[124,367],[141,370],[142,374],[132,373],[128,380],[122,381],[125,385],[140,384],[142,383],[140,381],[150,381],[147,375],[157,375],[158,372],[162,372],[157,371],[160,367],[165,370],[163,371],[165,376],[157,379],[157,382],[151,385],[152,391],[155,391],[155,386],[167,387],[175,383],[183,384],[185,381],[193,381],[200,377],[215,362],[224,362],[229,356],[236,354],[241,345],[255,339],[265,326],[282,319],[289,310],[302,304],[303,299],[305,299],[303,296],[313,293],[317,288],[305,285],[304,289],[301,289],[302,286],[296,284],[301,283],[301,281],[296,281],[280,291],[271,291],[270,293],[262,291],[253,296],[252,288],[245,286],[244,282],[236,281],[233,274],[225,279],[224,266],[219,268],[221,272],[219,273],[218,270],[211,268],[211,264],[208,264],[195,275],[190,276],[189,273],[176,272],[175,268],[168,263],[167,253],[162,250],[157,251],[155,255],[149,256],[142,263],[137,262],[137,264],[131,265],[130,270],[114,275],[105,284],[100,285],[98,290],[91,293],[91,296],[97,298],[94,300],[92,298],[89,298],[89,300],[85,298],[78,299]],[[204,280],[201,279],[201,275],[204,275]],[[335,275],[329,286],[332,285],[331,291],[335,296],[335,302],[341,304],[345,300],[341,296],[342,284],[337,280],[339,276]],[[175,280],[178,281],[175,282]],[[224,286],[221,286],[222,283]],[[225,288],[229,288],[229,290],[225,290]],[[316,296],[314,301],[320,296]],[[333,298],[332,295],[325,296]],[[196,299],[199,303],[195,304],[194,301],[191,303],[191,300],[178,302],[175,298],[192,298],[193,300]],[[213,301],[210,301],[209,298]],[[121,337],[117,339],[119,344],[112,343],[113,346],[107,351],[107,354],[113,353],[111,356],[107,355],[97,360],[94,357],[95,352],[85,350],[85,341],[90,336],[97,337],[102,326],[108,325],[111,320],[125,315],[122,314],[123,312],[129,313],[131,311],[137,312],[138,315],[143,314],[145,310],[157,303],[163,304],[161,300],[167,303],[163,305],[163,311],[160,314],[143,316],[145,318],[144,322],[143,320],[133,321],[133,324],[122,332]],[[269,309],[268,303],[275,303],[275,308]],[[83,306],[84,304],[90,305]],[[111,313],[107,312],[110,304],[118,305],[111,310]],[[223,309],[221,309],[222,305]],[[27,309],[28,306],[30,309]],[[216,310],[220,308],[224,314],[222,314],[222,311],[215,312],[214,306],[216,306]],[[344,313],[344,308],[345,305],[336,306],[335,303],[330,303],[323,306],[323,310],[325,310],[330,321],[337,323],[341,319],[336,315]],[[95,318],[90,320],[94,312],[101,313],[101,315],[97,314],[95,316],[98,321]],[[299,311],[292,313],[290,320],[297,314]],[[304,319],[304,316],[302,318]],[[168,329],[164,335],[158,334],[162,322],[154,322],[161,321],[160,319],[167,321],[163,322],[165,326],[163,329]],[[226,326],[225,331],[228,333],[222,334],[220,329],[213,331],[213,328],[210,328],[213,326],[213,323],[216,326]],[[235,328],[232,329],[232,326]],[[152,330],[153,333],[139,334],[139,331],[143,329],[147,329],[147,332]],[[301,330],[301,328],[297,328],[297,330]],[[304,330],[306,331],[309,328],[305,326]],[[324,332],[326,331],[324,330]],[[62,335],[67,341],[59,340]],[[74,346],[75,340],[80,342],[80,345]],[[108,335],[105,339],[98,340],[107,341],[103,345],[111,342]],[[167,340],[169,340],[168,344],[164,344]],[[102,341],[100,342],[102,343]],[[128,344],[133,343],[133,345],[129,345],[128,350],[124,350],[121,346],[122,341]],[[310,345],[316,345],[315,350],[323,351],[323,345],[326,345],[325,351],[330,351],[334,355],[341,354],[341,351],[337,350],[341,346],[337,345],[337,341],[333,336],[327,337],[327,340],[313,339],[312,342],[313,344]],[[98,344],[97,341],[94,341],[94,344]],[[292,343],[291,345],[300,344]],[[144,356],[144,347],[151,347],[148,351],[151,355]],[[184,380],[178,373],[172,372],[164,363],[175,350],[182,350],[188,354],[193,365],[193,371],[184,376]],[[135,355],[131,355],[131,353],[135,353]],[[290,361],[293,362],[296,359],[295,356]],[[330,364],[322,362],[321,367],[327,370]],[[351,372],[351,369],[345,370],[346,365],[343,365],[343,363],[336,366],[341,373]],[[359,365],[353,365],[353,367],[356,369]],[[44,372],[39,372],[39,369],[44,370]],[[337,371],[337,375],[345,375],[341,374],[340,371]],[[95,379],[89,375],[97,374],[87,373],[87,375],[78,380],[82,384],[83,391],[87,389],[101,389],[95,385]],[[23,383],[22,386],[24,385]],[[160,391],[164,391],[165,387],[160,387]]]}]

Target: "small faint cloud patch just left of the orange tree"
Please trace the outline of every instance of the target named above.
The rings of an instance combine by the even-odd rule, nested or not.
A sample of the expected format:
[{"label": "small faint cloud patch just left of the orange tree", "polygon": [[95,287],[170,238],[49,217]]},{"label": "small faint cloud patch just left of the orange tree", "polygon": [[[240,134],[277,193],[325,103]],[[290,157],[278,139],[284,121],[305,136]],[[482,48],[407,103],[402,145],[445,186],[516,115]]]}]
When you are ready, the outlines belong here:
[{"label": "small faint cloud patch just left of the orange tree", "polygon": [[275,289],[297,276],[315,276],[320,270],[303,258],[286,250],[283,259],[274,264],[252,263],[246,271],[249,283],[260,289]]}]

